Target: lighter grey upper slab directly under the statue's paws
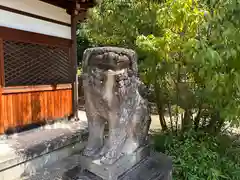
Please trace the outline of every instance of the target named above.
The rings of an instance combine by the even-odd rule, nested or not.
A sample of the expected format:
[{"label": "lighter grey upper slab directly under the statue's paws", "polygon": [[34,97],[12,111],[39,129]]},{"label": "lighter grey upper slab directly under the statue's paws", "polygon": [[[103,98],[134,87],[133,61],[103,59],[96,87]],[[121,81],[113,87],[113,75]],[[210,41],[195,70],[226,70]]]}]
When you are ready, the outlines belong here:
[{"label": "lighter grey upper slab directly under the statue's paws", "polygon": [[82,169],[86,169],[104,180],[116,179],[149,155],[149,146],[140,147],[134,153],[122,156],[116,163],[112,165],[104,165],[100,163],[99,159],[92,159],[82,156],[81,167]]}]

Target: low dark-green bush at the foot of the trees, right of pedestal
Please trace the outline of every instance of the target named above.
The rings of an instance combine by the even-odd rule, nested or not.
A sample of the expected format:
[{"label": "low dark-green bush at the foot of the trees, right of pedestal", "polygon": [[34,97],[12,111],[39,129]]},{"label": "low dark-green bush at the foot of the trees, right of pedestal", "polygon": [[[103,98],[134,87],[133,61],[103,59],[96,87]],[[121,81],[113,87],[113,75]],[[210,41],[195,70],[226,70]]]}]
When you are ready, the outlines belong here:
[{"label": "low dark-green bush at the foot of the trees, right of pedestal", "polygon": [[239,144],[205,133],[158,134],[154,146],[173,158],[176,180],[240,180]]}]

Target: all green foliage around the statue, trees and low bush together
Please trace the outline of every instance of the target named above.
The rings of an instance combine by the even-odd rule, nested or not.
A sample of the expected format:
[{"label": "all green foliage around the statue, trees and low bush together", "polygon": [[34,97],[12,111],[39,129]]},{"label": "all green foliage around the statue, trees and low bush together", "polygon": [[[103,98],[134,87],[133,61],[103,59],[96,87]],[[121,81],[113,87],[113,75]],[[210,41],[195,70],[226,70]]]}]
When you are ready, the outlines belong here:
[{"label": "all green foliage around the statue, trees and low bush together", "polygon": [[240,179],[239,146],[221,133],[240,123],[240,0],[104,0],[82,37],[137,51],[176,179]]}]

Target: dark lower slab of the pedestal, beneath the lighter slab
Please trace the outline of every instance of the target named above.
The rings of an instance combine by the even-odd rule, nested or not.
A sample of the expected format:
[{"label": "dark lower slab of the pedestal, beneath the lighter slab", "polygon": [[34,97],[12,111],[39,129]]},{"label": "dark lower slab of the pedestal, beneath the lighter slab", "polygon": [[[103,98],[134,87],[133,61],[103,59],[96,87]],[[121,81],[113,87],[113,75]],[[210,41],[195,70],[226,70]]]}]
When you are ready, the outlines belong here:
[{"label": "dark lower slab of the pedestal, beneath the lighter slab", "polygon": [[[77,166],[66,172],[63,180],[103,180],[99,176]],[[170,157],[151,152],[151,155],[122,174],[117,180],[172,180],[172,160]]]}]

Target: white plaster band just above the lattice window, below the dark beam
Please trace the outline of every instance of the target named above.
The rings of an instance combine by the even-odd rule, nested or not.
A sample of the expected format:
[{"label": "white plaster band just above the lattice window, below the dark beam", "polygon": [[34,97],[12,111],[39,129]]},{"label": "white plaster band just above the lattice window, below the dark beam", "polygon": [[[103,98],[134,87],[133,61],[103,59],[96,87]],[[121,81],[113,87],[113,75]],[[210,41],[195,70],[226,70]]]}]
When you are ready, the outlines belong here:
[{"label": "white plaster band just above the lattice window, below the dark beam", "polygon": [[[0,2],[1,1],[5,0],[0,0]],[[71,39],[71,27],[69,26],[51,23],[5,10],[0,10],[0,26]]]}]

